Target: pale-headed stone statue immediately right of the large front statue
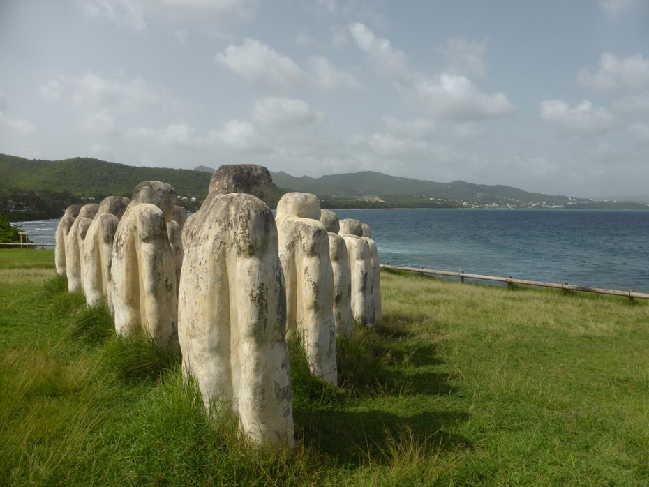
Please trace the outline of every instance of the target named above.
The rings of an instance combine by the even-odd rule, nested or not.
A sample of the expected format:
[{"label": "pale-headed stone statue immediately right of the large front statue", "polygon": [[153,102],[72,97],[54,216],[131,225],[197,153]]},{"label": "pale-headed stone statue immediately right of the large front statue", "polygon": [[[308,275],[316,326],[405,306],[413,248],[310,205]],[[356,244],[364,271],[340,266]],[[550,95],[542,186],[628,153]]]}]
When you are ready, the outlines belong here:
[{"label": "pale-headed stone statue immediately right of the large front statue", "polygon": [[286,334],[298,334],[315,377],[337,383],[334,271],[315,195],[286,193],[277,204],[279,258],[286,281]]}]

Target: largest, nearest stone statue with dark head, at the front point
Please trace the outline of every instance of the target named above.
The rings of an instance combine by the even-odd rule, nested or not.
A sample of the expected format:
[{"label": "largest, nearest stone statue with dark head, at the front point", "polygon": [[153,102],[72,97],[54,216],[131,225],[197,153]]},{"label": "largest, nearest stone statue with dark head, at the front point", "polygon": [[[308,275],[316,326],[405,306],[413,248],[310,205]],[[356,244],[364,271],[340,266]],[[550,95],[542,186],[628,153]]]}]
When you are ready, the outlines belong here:
[{"label": "largest, nearest stone statue with dark head, at the front point", "polygon": [[[249,193],[249,194],[246,194]],[[265,167],[225,165],[183,230],[178,335],[206,408],[223,400],[257,444],[292,447],[286,296]]]}]

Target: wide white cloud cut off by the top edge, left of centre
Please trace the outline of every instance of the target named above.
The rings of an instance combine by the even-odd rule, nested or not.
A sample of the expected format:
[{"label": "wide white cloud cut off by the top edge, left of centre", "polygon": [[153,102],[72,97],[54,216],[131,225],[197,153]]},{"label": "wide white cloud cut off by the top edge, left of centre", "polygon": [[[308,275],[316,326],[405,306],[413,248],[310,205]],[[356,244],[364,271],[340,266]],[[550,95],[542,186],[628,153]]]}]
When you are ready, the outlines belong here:
[{"label": "wide white cloud cut off by the top edge, left of centre", "polygon": [[169,24],[214,28],[249,20],[258,0],[75,0],[84,15],[105,17],[136,31],[144,31],[147,18]]}]

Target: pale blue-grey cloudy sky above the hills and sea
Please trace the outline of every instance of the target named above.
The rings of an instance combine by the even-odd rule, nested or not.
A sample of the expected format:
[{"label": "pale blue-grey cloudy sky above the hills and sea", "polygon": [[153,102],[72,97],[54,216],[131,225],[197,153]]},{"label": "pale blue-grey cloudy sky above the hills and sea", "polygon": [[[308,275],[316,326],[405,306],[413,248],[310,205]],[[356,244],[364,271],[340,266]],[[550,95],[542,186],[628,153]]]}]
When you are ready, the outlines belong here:
[{"label": "pale blue-grey cloudy sky above the hills and sea", "polygon": [[0,0],[0,153],[649,197],[649,0]]}]

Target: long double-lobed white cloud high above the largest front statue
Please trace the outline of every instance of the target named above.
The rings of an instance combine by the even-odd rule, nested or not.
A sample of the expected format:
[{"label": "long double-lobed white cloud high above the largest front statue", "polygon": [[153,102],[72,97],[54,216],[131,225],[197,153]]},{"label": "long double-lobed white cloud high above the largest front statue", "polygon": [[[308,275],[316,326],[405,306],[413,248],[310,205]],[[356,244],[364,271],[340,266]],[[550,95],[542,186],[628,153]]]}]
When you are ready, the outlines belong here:
[{"label": "long double-lobed white cloud high above the largest front statue", "polygon": [[306,73],[290,57],[251,38],[246,38],[242,45],[227,46],[214,56],[214,62],[268,94],[283,94],[303,84],[322,90],[360,87],[352,75],[333,66],[326,57],[310,57],[309,73]]}]

